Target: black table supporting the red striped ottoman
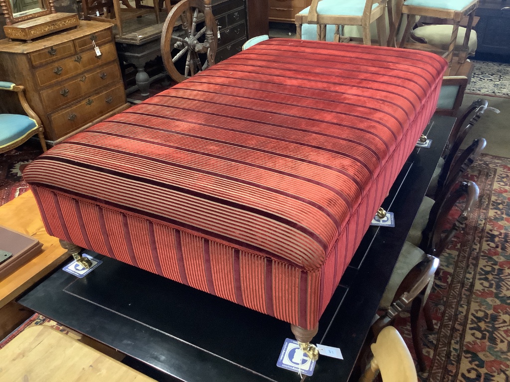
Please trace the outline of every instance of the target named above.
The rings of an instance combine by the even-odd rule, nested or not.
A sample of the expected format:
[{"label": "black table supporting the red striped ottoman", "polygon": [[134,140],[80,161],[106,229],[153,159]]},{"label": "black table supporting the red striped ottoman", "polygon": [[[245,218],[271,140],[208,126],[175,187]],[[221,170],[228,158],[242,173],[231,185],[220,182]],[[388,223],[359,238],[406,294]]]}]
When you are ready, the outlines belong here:
[{"label": "black table supporting the red striped ottoman", "polygon": [[[320,357],[310,381],[348,380],[380,298],[443,151],[454,118],[435,116],[429,149],[415,149],[382,207],[396,227],[370,227],[319,321]],[[57,270],[19,303],[184,381],[298,381],[276,367],[290,325],[211,294],[97,255],[83,279]],[[134,363],[132,363],[134,364]],[[149,370],[152,370],[149,368]]]}]

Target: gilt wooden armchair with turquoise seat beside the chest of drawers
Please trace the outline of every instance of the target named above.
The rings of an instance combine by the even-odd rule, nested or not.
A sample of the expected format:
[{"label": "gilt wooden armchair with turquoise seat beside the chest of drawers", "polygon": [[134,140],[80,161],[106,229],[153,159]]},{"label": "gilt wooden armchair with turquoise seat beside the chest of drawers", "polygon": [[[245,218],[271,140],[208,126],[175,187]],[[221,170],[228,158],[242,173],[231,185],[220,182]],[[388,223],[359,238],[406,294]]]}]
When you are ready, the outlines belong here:
[{"label": "gilt wooden armchair with turquoise seat beside the chest of drawers", "polygon": [[42,151],[46,151],[42,122],[28,104],[24,89],[24,87],[11,82],[0,81],[0,90],[16,92],[24,112],[28,115],[0,114],[0,153],[18,147],[35,134],[39,136]]}]

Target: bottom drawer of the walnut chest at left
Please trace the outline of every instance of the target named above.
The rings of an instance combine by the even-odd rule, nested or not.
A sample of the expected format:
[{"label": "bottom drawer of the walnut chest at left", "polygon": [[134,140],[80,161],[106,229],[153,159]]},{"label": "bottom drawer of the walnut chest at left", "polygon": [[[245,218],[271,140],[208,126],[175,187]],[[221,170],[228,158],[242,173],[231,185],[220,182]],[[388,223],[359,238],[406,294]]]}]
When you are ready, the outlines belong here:
[{"label": "bottom drawer of the walnut chest at left", "polygon": [[57,137],[85,126],[125,103],[124,86],[119,82],[108,89],[91,95],[65,109],[49,114],[48,118]]}]

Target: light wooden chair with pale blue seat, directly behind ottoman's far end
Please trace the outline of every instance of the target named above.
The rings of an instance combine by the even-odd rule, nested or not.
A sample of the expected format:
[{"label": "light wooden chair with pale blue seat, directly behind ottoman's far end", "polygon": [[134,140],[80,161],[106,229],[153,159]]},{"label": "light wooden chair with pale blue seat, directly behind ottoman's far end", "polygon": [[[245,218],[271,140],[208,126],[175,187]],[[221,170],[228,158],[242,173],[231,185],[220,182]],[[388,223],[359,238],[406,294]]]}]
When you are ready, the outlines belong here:
[{"label": "light wooden chair with pale blue seat, directly behind ottoman's far end", "polygon": [[351,2],[313,0],[310,7],[303,9],[295,17],[296,37],[301,38],[303,24],[314,24],[317,25],[317,39],[325,41],[326,26],[329,24],[335,25],[334,41],[340,42],[340,25],[361,25],[363,43],[371,45],[370,24],[375,21],[379,45],[387,46],[388,36],[384,17],[387,2],[388,0],[355,0]]}]

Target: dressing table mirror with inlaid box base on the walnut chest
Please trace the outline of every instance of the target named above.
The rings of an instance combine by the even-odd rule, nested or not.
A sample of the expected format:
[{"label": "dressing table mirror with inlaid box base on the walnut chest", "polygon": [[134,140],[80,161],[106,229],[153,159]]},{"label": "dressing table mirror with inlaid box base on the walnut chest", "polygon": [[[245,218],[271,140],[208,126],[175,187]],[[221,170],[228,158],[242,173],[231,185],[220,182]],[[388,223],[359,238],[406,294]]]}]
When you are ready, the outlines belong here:
[{"label": "dressing table mirror with inlaid box base on the walnut chest", "polygon": [[10,39],[32,39],[78,26],[74,13],[59,13],[53,0],[0,0],[6,19],[5,35]]}]

